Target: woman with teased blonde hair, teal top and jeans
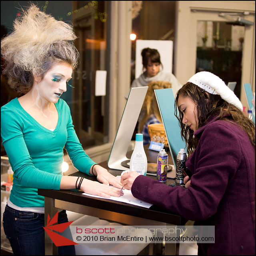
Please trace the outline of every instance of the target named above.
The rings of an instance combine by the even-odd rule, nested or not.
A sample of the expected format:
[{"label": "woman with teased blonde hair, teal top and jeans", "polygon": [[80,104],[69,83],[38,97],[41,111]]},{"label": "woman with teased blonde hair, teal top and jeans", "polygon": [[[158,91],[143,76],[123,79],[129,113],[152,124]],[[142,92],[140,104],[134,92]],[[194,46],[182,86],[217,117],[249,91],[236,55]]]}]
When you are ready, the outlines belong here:
[{"label": "woman with teased blonde hair, teal top and jeans", "polygon": [[[2,144],[9,158],[13,186],[4,216],[4,232],[14,255],[44,255],[44,197],[37,189],[80,189],[89,194],[121,196],[122,185],[92,161],[80,144],[70,109],[60,97],[77,66],[73,27],[31,5],[1,41],[3,73],[23,94],[1,108]],[[63,149],[74,166],[99,182],[62,176]],[[112,184],[117,188],[108,186]],[[60,210],[58,223],[67,222]],[[58,247],[74,255],[74,246]]]}]

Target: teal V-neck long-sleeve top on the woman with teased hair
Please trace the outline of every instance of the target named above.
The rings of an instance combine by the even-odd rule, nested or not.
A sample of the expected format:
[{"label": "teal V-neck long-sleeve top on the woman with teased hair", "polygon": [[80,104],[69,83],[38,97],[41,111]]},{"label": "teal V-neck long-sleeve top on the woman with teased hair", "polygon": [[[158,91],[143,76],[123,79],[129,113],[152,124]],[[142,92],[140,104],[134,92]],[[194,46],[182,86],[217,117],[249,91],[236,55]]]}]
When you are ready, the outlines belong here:
[{"label": "teal V-neck long-sleeve top on the woman with teased hair", "polygon": [[55,104],[58,123],[54,131],[40,125],[15,98],[1,107],[2,144],[14,172],[10,201],[19,207],[44,207],[37,189],[60,189],[63,149],[74,167],[89,174],[95,164],[80,144],[68,104]]}]

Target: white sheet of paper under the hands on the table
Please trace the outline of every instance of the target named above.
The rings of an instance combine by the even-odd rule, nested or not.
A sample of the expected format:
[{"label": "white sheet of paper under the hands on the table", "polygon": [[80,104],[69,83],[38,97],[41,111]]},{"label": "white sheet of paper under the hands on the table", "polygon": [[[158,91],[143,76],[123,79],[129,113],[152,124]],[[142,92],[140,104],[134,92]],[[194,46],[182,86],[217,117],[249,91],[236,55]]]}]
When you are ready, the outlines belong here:
[{"label": "white sheet of paper under the hands on the table", "polygon": [[[121,176],[116,176],[116,178],[119,178],[119,177],[121,177]],[[123,202],[123,203],[127,203],[127,204],[133,204],[133,205],[136,205],[136,206],[145,207],[145,208],[150,208],[150,206],[153,205],[153,204],[149,204],[149,203],[146,203],[146,202],[144,202],[144,201],[142,201],[140,199],[135,198],[132,195],[132,191],[131,190],[124,189],[123,192],[124,192],[123,196],[120,196],[120,197],[110,196],[110,198],[106,198],[106,197],[103,197],[103,196],[91,195],[91,194],[87,194],[87,193],[83,193],[83,195],[97,197],[97,198],[104,198],[104,199],[109,199],[109,200],[114,200],[114,201],[118,201],[118,202]]]}]

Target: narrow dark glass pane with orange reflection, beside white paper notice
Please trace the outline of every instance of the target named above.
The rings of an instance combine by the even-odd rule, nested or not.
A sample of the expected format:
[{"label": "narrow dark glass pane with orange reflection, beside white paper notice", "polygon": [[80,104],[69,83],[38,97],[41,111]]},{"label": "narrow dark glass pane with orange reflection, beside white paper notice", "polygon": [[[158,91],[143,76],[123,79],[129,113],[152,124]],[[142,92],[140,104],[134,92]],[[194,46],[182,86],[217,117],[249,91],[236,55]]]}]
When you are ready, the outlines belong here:
[{"label": "narrow dark glass pane with orange reflection, beside white paper notice", "polygon": [[80,64],[75,72],[72,94],[72,117],[74,127],[82,145],[95,146],[108,141],[107,96],[95,95],[96,70],[107,70],[106,34],[107,1],[75,1],[80,10],[72,20],[78,36],[76,47],[80,52]]}]

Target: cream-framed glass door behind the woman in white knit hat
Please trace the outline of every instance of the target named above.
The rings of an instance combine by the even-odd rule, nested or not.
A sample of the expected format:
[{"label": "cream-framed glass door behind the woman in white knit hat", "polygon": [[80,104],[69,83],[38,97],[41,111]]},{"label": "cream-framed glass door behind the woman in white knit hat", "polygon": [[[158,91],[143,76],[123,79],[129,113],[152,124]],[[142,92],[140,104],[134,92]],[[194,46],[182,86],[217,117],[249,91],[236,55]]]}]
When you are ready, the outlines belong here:
[{"label": "cream-framed glass door behind the woman in white knit hat", "polygon": [[[216,75],[222,77],[226,84],[237,82],[235,93],[243,106],[248,108],[242,85],[250,83],[252,91],[255,92],[253,1],[230,1],[232,10],[230,10],[230,2],[224,1],[178,2],[176,77],[185,84],[197,71],[203,69],[216,73],[217,70],[219,73]],[[244,15],[245,10],[246,15]],[[238,16],[249,20],[252,25],[228,24],[231,20],[220,16],[222,12],[236,12]],[[207,39],[205,44],[202,38]]]}]

